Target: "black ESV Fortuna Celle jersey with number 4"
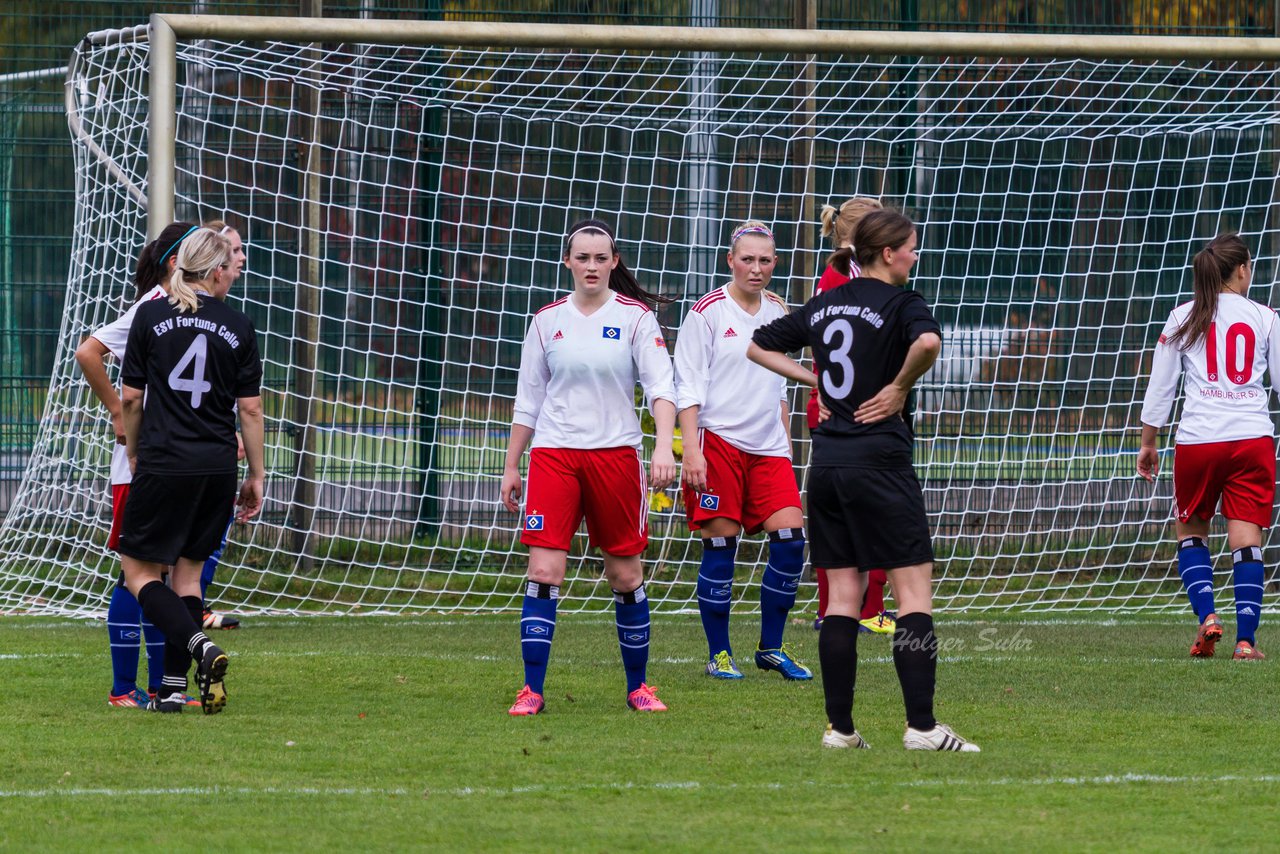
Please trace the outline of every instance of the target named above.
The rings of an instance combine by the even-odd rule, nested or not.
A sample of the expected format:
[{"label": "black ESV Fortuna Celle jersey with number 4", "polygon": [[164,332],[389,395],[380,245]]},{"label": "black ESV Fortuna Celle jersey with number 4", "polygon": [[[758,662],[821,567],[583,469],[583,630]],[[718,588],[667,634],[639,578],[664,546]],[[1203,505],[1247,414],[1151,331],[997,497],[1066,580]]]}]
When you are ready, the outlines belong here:
[{"label": "black ESV Fortuna Celle jersey with number 4", "polygon": [[138,471],[236,471],[236,401],[262,383],[257,334],[236,309],[198,296],[195,314],[152,300],[133,316],[120,382],[146,391]]}]

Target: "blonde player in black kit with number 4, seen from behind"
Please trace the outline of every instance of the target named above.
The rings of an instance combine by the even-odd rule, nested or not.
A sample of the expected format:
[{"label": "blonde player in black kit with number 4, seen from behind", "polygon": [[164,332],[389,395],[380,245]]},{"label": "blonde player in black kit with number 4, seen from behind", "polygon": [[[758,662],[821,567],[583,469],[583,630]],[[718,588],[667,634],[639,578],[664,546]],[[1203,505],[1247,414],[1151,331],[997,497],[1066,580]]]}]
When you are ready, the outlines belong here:
[{"label": "blonde player in black kit with number 4, seen from behind", "polygon": [[[236,501],[237,408],[248,461],[237,517],[262,503],[262,361],[248,318],[223,302],[229,269],[224,238],[207,228],[187,237],[169,298],[138,307],[120,371],[133,467],[118,547],[124,579],[170,648],[195,657],[206,714],[227,703],[227,656],[200,630],[200,570]],[[172,589],[160,580],[166,566]],[[170,661],[155,707],[182,711],[187,666],[174,672]]]}]

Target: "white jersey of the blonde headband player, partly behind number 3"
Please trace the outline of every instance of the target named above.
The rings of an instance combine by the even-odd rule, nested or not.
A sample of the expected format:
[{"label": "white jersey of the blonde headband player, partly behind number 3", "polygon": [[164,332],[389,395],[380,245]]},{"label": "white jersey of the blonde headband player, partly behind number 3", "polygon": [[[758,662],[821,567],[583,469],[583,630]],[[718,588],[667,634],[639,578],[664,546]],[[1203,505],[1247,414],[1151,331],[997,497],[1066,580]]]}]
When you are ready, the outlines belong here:
[{"label": "white jersey of the blonde headband player, partly behind number 3", "polygon": [[760,296],[753,316],[724,286],[685,315],[676,339],[676,411],[698,406],[698,426],[735,448],[790,458],[781,407],[787,382],[746,357],[751,334],[787,312],[778,296]]}]

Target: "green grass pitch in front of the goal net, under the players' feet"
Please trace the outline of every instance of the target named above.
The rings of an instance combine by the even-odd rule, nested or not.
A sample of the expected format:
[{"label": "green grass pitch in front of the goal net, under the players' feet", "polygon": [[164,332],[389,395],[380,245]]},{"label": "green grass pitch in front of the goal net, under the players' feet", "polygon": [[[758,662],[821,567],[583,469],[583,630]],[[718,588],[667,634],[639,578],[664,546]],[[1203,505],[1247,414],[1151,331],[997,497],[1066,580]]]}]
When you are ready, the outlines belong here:
[{"label": "green grass pitch in front of the goal net, under the players' feet", "polygon": [[668,713],[627,711],[612,622],[570,616],[524,720],[515,615],[246,622],[204,717],[108,708],[100,622],[0,620],[0,850],[1257,849],[1280,794],[1277,663],[1192,661],[1188,620],[940,617],[938,716],[980,754],[902,750],[881,636],[873,749],[836,752],[817,681],[703,676],[696,617],[654,621]]}]

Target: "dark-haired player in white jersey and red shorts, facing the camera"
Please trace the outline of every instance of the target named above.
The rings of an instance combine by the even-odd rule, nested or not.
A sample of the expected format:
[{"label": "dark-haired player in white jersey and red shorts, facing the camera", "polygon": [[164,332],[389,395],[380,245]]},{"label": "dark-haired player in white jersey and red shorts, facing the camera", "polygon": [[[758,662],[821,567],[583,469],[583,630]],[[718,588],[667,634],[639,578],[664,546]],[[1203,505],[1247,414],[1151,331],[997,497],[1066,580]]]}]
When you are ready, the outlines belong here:
[{"label": "dark-haired player in white jersey and red shorts, facing the camera", "polygon": [[660,489],[676,478],[671,357],[652,311],[664,300],[639,286],[618,255],[613,232],[599,220],[570,229],[564,266],[573,277],[573,292],[539,310],[525,335],[502,475],[502,502],[520,512],[520,458],[532,442],[521,533],[529,547],[520,618],[525,686],[509,713],[538,714],[545,708],[556,599],[584,516],[613,589],[627,705],[663,712],[667,707],[645,684],[649,602],[640,554],[649,544],[649,517],[635,387],[639,382],[644,388],[657,425],[649,485]]}]

